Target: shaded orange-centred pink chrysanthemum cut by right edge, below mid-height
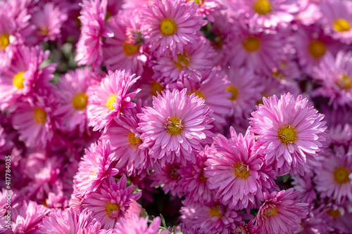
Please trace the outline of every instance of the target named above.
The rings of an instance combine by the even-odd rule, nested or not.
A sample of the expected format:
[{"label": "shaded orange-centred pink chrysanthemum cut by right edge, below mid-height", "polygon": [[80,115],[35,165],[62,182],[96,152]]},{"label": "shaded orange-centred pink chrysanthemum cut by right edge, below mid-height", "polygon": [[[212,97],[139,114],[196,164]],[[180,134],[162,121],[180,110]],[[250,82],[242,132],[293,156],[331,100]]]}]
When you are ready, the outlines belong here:
[{"label": "shaded orange-centred pink chrysanthemum cut by right edge, below mid-height", "polygon": [[334,204],[352,202],[352,146],[335,146],[324,152],[321,168],[315,170],[315,189],[322,198],[332,198]]}]

